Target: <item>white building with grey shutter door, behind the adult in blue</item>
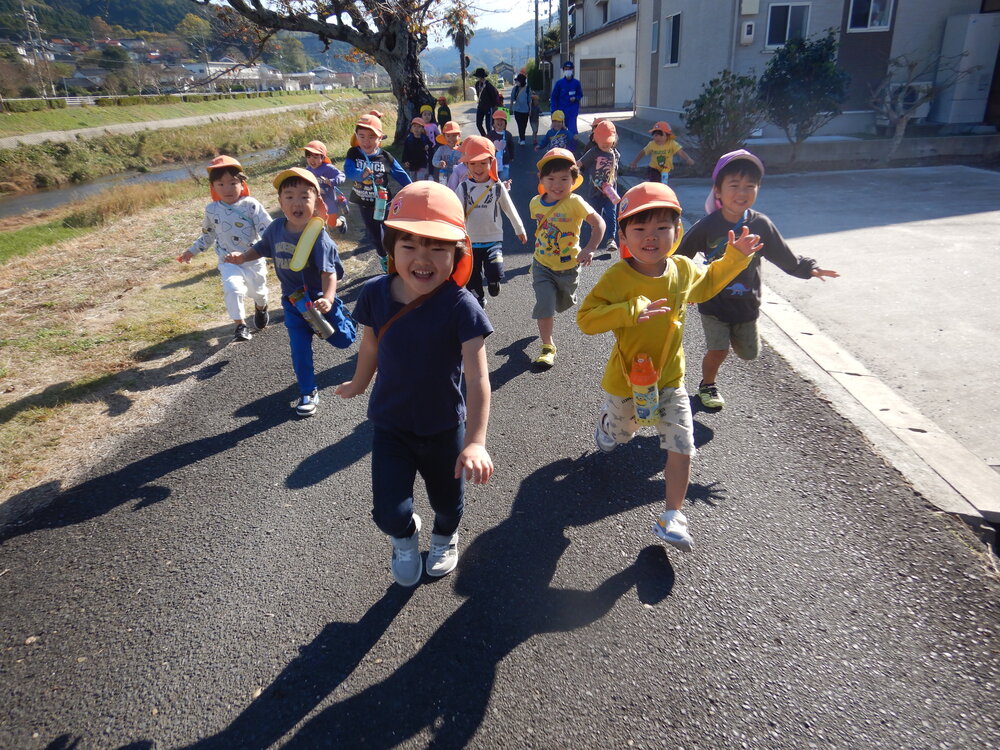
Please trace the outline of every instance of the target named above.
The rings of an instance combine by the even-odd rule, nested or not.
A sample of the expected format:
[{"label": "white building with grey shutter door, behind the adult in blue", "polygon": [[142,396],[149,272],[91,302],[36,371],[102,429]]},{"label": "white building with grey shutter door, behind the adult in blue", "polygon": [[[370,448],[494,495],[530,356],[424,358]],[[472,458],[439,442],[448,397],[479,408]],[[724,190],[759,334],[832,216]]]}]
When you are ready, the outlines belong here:
[{"label": "white building with grey shutter door, behind the adult in blue", "polygon": [[631,109],[636,70],[634,0],[576,0],[571,6],[569,54],[583,86],[583,106]]}]

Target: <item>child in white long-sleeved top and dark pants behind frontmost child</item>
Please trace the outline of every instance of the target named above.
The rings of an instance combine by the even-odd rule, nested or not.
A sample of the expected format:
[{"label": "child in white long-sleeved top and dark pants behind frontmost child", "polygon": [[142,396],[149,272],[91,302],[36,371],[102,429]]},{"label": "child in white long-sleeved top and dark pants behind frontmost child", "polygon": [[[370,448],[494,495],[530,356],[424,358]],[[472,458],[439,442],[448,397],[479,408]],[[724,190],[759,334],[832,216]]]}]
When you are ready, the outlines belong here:
[{"label": "child in white long-sleeved top and dark pants behind frontmost child", "polygon": [[500,294],[503,281],[503,220],[507,215],[521,244],[528,242],[521,217],[514,208],[506,185],[497,176],[497,159],[489,138],[472,135],[462,146],[462,163],[469,170],[455,192],[462,202],[465,223],[472,241],[472,276],[465,288],[486,307],[483,277],[491,297]]}]

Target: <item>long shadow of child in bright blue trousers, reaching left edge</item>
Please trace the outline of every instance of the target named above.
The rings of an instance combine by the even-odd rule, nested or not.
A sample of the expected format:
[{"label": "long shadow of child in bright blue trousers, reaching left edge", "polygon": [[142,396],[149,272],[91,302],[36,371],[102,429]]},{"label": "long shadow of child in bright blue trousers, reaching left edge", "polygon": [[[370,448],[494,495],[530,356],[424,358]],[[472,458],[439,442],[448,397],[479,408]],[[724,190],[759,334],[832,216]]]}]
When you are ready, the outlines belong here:
[{"label": "long shadow of child in bright blue trousers, reaching left edge", "polygon": [[[343,382],[353,369],[354,362],[349,360],[325,371],[321,379],[323,382]],[[236,411],[236,417],[252,417],[251,421],[232,430],[181,443],[140,458],[127,466],[61,492],[44,506],[31,507],[31,501],[37,499],[36,493],[40,488],[25,490],[4,504],[5,517],[16,520],[0,528],[0,544],[40,529],[83,523],[119,505],[135,502],[132,510],[137,511],[165,500],[171,496],[172,490],[169,485],[157,484],[157,480],[198,461],[236,448],[241,442],[294,418],[289,413],[289,400],[284,391],[268,394]],[[50,482],[46,486],[57,490],[59,483]]]}]

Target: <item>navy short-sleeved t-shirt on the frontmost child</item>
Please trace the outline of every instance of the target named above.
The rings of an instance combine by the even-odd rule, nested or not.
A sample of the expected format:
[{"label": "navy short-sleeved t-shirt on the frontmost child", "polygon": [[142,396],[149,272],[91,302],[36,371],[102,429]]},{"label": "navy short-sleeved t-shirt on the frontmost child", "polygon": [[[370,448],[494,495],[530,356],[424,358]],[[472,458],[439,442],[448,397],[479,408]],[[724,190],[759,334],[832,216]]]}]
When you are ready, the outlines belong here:
[{"label": "navy short-sleeved t-shirt on the frontmost child", "polygon": [[[354,319],[376,334],[403,308],[389,292],[394,276],[379,276],[361,290]],[[444,288],[396,320],[378,345],[378,372],[368,417],[378,427],[433,435],[465,421],[462,344],[489,336],[493,326],[467,290]]]}]

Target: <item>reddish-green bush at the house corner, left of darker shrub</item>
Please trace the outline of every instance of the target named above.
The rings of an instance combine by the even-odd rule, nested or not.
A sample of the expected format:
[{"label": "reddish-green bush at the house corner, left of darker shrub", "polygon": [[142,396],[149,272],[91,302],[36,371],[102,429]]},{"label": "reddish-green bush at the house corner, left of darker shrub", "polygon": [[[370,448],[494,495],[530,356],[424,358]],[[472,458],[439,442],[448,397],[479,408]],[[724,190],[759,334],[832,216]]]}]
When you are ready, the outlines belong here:
[{"label": "reddish-green bush at the house corner, left of darker shrub", "polygon": [[729,151],[742,148],[764,121],[757,79],[723,70],[702,86],[696,99],[684,102],[681,114],[702,164],[715,164]]}]

